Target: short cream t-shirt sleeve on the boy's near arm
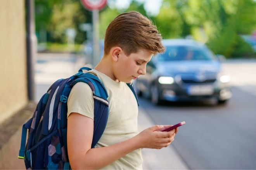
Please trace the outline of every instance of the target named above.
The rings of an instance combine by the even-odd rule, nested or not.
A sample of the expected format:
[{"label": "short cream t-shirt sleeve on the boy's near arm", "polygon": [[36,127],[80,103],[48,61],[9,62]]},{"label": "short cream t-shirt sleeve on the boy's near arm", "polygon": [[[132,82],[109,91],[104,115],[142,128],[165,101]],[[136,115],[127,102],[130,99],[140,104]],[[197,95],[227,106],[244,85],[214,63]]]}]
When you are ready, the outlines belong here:
[{"label": "short cream t-shirt sleeve on the boy's near arm", "polygon": [[71,89],[67,100],[67,117],[72,112],[94,119],[93,94],[88,84],[78,82]]}]

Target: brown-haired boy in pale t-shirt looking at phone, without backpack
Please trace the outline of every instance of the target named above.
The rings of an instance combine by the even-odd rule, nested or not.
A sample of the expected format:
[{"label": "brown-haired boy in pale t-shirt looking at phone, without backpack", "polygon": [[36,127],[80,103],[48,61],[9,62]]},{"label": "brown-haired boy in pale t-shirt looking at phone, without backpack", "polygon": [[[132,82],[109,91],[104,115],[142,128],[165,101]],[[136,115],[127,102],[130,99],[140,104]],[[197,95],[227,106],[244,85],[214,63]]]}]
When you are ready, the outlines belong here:
[{"label": "brown-haired boy in pale t-shirt looking at phone, without backpack", "polygon": [[178,128],[152,126],[137,132],[137,101],[126,83],[145,75],[146,64],[162,53],[162,37],[152,22],[138,12],[118,15],[107,27],[104,56],[90,73],[109,95],[107,126],[95,148],[93,95],[86,83],[77,83],[67,102],[67,150],[72,169],[142,169],[141,148],[161,149],[171,144]]}]

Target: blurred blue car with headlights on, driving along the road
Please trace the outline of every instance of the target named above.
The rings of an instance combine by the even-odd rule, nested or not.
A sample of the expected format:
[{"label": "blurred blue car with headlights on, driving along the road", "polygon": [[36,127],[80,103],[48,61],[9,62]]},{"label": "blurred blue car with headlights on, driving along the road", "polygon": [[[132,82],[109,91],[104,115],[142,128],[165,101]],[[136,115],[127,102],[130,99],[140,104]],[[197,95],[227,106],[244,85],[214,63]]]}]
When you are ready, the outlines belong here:
[{"label": "blurred blue car with headlights on, driving along the road", "polygon": [[135,82],[138,95],[152,103],[216,99],[219,104],[231,98],[230,77],[221,69],[220,57],[205,44],[191,39],[163,40],[166,51],[153,56],[147,73]]}]

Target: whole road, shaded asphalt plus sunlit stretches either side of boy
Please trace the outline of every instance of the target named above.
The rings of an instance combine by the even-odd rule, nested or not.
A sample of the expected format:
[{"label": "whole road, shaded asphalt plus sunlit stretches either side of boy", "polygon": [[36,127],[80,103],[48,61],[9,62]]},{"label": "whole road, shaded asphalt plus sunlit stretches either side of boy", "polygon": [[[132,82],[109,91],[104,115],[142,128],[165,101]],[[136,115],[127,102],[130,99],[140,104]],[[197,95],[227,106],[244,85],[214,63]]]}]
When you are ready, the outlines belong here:
[{"label": "whole road, shaded asphalt plus sunlit stretches either side of boy", "polygon": [[[49,85],[82,66],[76,56],[39,54],[36,64],[36,100]],[[189,169],[256,169],[256,62],[224,63],[231,76],[233,96],[226,105],[166,103],[155,106],[140,98],[155,124],[186,121],[173,147]]]}]

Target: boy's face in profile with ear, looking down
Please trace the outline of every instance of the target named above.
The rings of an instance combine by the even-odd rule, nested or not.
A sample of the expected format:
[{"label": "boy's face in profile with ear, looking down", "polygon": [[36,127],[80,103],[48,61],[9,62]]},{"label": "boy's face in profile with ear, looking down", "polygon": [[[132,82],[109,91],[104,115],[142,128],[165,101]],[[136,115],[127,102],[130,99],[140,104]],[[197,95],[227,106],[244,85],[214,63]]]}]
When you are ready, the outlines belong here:
[{"label": "boy's face in profile with ear, looking down", "polygon": [[130,83],[140,75],[146,74],[146,65],[152,58],[152,53],[145,49],[138,50],[126,56],[123,51],[119,53],[119,59],[114,66],[114,76],[120,82]]}]

